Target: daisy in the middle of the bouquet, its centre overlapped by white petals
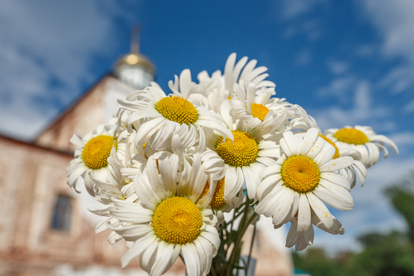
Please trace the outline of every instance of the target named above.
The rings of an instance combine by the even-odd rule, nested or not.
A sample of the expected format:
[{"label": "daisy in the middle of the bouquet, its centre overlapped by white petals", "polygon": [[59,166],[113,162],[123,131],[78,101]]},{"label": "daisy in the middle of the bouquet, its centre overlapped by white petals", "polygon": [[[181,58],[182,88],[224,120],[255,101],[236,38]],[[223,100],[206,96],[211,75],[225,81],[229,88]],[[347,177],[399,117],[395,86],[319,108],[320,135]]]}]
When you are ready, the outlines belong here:
[{"label": "daisy in the middle of the bouquet, its centre overlapped by white petals", "polygon": [[234,198],[246,183],[250,199],[255,198],[256,187],[260,183],[261,172],[276,163],[279,148],[272,140],[264,140],[260,128],[246,130],[234,123],[230,116],[230,104],[221,105],[221,115],[232,131],[234,142],[223,136],[213,134],[207,138],[207,150],[202,153],[202,160],[209,170],[219,165],[225,170],[225,201]]}]

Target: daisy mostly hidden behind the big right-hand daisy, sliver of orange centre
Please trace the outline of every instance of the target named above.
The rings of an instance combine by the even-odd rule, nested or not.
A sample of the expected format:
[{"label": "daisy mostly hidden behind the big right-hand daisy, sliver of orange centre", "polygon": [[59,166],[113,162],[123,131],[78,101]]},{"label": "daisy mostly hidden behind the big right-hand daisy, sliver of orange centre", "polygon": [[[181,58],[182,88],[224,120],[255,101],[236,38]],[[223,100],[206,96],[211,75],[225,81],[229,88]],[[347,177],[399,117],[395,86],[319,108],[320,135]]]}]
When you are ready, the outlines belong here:
[{"label": "daisy mostly hidden behind the big right-hand daisy, sliver of orange centre", "polygon": [[[347,151],[342,151],[342,155],[340,155],[340,150],[337,148],[333,140],[329,139],[328,137],[324,136],[323,134],[319,134],[319,137],[323,138],[335,147],[335,154],[333,154],[333,159],[337,159],[340,156],[353,156],[353,152],[355,150],[348,148]],[[360,179],[361,186],[365,184],[365,178],[367,177],[367,169],[365,165],[358,160],[353,160],[353,164],[350,165],[348,168],[344,168],[341,170],[341,174],[348,178],[351,188],[353,188],[356,184],[356,176]]]}]

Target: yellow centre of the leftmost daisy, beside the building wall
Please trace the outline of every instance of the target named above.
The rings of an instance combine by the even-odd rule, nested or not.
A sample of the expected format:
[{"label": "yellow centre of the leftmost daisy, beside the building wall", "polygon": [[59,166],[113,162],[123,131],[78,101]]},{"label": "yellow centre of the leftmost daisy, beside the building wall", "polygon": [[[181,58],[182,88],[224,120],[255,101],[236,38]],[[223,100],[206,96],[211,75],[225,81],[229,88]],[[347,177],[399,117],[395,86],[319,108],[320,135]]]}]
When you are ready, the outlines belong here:
[{"label": "yellow centre of the leftmost daisy, beside the building wall", "polygon": [[[96,136],[86,143],[82,151],[82,159],[88,168],[97,170],[108,165],[108,157],[115,138],[107,135]],[[115,141],[115,148],[117,147]]]}]

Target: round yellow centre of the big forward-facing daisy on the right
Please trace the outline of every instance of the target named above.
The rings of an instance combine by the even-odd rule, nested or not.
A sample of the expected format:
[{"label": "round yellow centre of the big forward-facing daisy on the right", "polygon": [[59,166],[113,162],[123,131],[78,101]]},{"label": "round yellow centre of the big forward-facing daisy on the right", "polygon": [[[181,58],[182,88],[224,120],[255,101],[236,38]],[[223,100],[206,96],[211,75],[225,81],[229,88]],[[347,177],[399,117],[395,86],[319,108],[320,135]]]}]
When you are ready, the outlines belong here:
[{"label": "round yellow centre of the big forward-facing daisy on the right", "polygon": [[282,180],[285,185],[298,193],[307,193],[319,183],[317,163],[309,157],[290,156],[282,165]]}]

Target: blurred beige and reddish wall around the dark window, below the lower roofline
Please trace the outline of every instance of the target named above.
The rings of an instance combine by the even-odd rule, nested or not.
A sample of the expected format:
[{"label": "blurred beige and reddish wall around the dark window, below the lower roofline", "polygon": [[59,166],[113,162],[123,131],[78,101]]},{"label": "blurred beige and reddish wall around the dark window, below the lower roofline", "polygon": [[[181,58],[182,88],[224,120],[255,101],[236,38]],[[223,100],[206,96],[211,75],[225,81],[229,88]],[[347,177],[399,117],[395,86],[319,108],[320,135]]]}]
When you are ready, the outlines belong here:
[{"label": "blurred beige and reddish wall around the dark window, below the lower roofline", "polygon": [[[0,275],[54,275],[54,268],[65,263],[120,269],[125,243],[110,245],[109,232],[95,234],[77,193],[66,184],[72,156],[8,138],[0,138],[0,153]],[[71,199],[69,232],[51,229],[58,195]],[[129,267],[138,267],[138,261]],[[175,270],[182,268],[177,263]]]}]

